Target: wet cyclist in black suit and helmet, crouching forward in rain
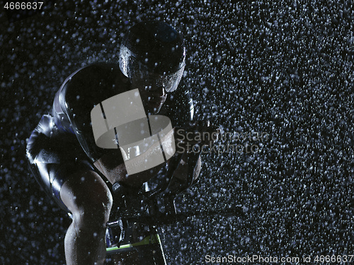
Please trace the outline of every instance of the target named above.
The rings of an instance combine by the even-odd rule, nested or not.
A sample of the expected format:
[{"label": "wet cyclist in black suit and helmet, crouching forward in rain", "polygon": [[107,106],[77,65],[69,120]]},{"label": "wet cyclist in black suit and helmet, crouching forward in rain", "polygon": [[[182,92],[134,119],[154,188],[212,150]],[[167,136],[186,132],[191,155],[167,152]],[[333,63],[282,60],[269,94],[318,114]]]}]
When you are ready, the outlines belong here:
[{"label": "wet cyclist in black suit and helmet, crouching forward in rain", "polygon": [[[67,264],[103,264],[105,223],[113,203],[108,186],[138,189],[164,166],[127,174],[119,148],[96,145],[91,110],[108,98],[138,89],[147,115],[165,115],[175,129],[181,128],[193,121],[194,111],[188,91],[176,90],[184,67],[181,34],[163,22],[137,23],[122,40],[119,65],[96,63],[72,73],[57,91],[51,113],[43,115],[32,132],[27,145],[31,170],[45,192],[72,216],[64,242]],[[190,124],[193,134],[217,132],[200,122]],[[179,146],[200,143],[176,134],[173,141]],[[181,181],[188,169],[185,150],[175,172]],[[196,179],[200,158],[189,166],[195,168]]]}]

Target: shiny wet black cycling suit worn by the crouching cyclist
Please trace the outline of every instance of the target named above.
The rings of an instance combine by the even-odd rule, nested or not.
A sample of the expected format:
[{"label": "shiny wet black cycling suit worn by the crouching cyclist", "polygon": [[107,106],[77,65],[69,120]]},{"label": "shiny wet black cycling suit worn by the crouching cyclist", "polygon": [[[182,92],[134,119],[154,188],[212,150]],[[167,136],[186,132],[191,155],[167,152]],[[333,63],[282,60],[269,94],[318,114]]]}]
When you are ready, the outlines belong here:
[{"label": "shiny wet black cycling suit worn by the crouching cyclist", "polygon": [[[131,90],[131,83],[117,64],[96,63],[79,69],[55,94],[50,114],[42,116],[27,144],[27,157],[35,178],[65,211],[60,199],[62,184],[78,170],[96,170],[93,163],[110,149],[96,146],[91,110],[103,100]],[[173,98],[173,100],[171,100]],[[193,101],[188,90],[168,94],[159,114],[172,126],[193,120]],[[124,163],[121,155],[121,163]]]}]

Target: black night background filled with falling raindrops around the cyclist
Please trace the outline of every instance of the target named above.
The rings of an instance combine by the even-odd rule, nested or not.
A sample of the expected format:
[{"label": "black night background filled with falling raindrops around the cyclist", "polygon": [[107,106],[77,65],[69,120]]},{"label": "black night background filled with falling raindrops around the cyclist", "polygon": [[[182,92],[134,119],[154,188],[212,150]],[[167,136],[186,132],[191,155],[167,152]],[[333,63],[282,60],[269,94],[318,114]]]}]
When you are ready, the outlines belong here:
[{"label": "black night background filled with falling raindrops around the cyclist", "polygon": [[120,34],[146,19],[185,36],[185,86],[200,119],[223,133],[269,134],[233,142],[258,153],[202,156],[185,208],[243,213],[164,227],[169,264],[206,264],[206,254],[353,255],[353,2],[108,2],[0,15],[0,263],[64,264],[69,218],[30,175],[25,143],[64,79],[116,61]]}]

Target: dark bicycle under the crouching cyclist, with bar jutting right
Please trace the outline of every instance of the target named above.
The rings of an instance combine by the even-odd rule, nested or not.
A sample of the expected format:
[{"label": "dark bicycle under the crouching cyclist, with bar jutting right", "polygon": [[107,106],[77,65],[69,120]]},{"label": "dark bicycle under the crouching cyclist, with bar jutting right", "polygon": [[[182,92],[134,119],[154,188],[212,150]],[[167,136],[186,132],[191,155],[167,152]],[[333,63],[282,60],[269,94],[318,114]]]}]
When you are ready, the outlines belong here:
[{"label": "dark bicycle under the crouching cyclist, with bar jutting right", "polygon": [[[200,153],[193,153],[188,158],[188,165],[196,165]],[[175,199],[178,194],[190,188],[193,182],[195,167],[188,167],[188,177],[178,188],[171,189],[173,173],[177,170],[183,153],[171,158],[163,181],[152,190],[147,185],[144,191],[129,194],[125,187],[115,184],[114,192],[124,194],[121,204],[113,208],[106,230],[106,254],[122,254],[135,252],[135,264],[166,265],[164,249],[157,228],[161,225],[173,225],[190,216],[202,216],[206,212],[177,213]],[[207,214],[242,215],[241,206],[232,206],[222,211],[209,211]],[[132,261],[130,261],[132,262]],[[119,263],[118,263],[119,264]],[[130,263],[132,264],[132,263]]]}]

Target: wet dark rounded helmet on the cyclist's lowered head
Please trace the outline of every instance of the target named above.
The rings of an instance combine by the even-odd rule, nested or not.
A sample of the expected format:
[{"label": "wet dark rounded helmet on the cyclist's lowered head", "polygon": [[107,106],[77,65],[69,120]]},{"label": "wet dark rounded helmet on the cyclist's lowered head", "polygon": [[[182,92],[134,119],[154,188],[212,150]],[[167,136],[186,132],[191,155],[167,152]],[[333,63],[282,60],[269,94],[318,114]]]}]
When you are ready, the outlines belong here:
[{"label": "wet dark rounded helmet on the cyclist's lowered head", "polygon": [[137,23],[122,40],[119,64],[130,79],[154,75],[167,92],[176,90],[185,67],[183,36],[161,21]]}]

